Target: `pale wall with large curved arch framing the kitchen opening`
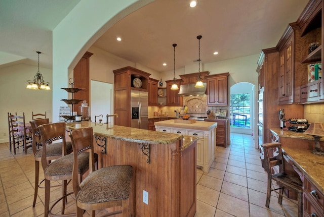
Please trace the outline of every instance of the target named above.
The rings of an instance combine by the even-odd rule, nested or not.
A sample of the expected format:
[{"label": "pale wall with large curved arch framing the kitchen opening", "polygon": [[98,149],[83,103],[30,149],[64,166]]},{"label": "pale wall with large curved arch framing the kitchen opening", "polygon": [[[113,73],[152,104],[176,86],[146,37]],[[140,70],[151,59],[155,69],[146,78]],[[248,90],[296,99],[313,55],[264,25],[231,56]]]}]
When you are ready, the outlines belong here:
[{"label": "pale wall with large curved arch framing the kitchen opening", "polygon": [[53,121],[58,120],[60,91],[68,76],[91,45],[113,24],[152,0],[92,1],[81,0],[53,30]]}]

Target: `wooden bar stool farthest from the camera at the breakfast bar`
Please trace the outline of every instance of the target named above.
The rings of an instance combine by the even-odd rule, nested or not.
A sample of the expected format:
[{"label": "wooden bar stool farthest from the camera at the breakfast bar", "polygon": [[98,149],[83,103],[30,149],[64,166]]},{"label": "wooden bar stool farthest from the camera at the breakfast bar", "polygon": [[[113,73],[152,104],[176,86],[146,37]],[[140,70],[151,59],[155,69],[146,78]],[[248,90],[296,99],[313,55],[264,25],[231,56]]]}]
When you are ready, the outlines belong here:
[{"label": "wooden bar stool farthest from the camera at the breakfast bar", "polygon": [[[35,187],[34,187],[34,200],[32,206],[35,207],[36,204],[36,199],[37,199],[37,193],[38,193],[38,188],[45,188],[42,183],[45,181],[43,179],[41,182],[39,182],[39,162],[42,161],[42,140],[41,140],[41,132],[38,129],[38,126],[41,126],[43,124],[49,124],[50,121],[49,119],[36,119],[33,121],[30,121],[31,129],[32,129],[32,151],[35,156]],[[54,159],[57,159],[62,156],[64,153],[62,151],[63,143],[58,142],[58,143],[52,143],[48,144],[47,146],[47,155],[46,158],[49,162],[51,162]],[[71,142],[66,142],[66,153],[69,154],[72,152],[72,145]],[[58,187],[61,185],[55,185],[52,187]]]}]

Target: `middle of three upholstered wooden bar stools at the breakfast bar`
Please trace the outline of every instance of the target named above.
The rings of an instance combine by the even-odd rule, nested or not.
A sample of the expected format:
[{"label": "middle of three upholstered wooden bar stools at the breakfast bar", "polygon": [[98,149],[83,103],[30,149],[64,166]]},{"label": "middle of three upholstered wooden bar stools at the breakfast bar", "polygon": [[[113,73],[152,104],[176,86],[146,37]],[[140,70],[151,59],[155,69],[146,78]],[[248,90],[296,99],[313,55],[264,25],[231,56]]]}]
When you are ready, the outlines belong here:
[{"label": "middle of three upholstered wooden bar stools at the breakfast bar", "polygon": [[[38,126],[41,132],[42,141],[42,167],[44,169],[45,177],[45,213],[44,216],[47,217],[49,214],[51,216],[55,215],[52,213],[53,208],[62,201],[61,215],[64,216],[75,216],[75,213],[64,214],[66,197],[71,193],[67,194],[66,186],[67,181],[72,179],[73,170],[73,154],[67,154],[66,149],[66,139],[65,139],[65,122],[44,124]],[[50,164],[47,158],[49,147],[54,144],[57,140],[62,140],[62,156],[53,160]],[[51,144],[53,143],[53,144]],[[98,155],[95,155],[96,160]],[[82,180],[82,176],[89,170],[89,152],[85,152],[79,155],[79,167],[78,167],[78,177]],[[62,181],[62,197],[58,198],[50,208],[50,188],[51,181]]]}]

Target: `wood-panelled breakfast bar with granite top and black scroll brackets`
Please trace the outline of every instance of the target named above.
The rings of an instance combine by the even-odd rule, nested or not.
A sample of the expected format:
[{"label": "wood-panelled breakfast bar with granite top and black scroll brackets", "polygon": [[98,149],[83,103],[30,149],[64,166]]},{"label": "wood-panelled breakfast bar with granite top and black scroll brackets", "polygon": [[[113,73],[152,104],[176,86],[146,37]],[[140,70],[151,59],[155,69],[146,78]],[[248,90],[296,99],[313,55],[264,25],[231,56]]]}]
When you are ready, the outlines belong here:
[{"label": "wood-panelled breakfast bar with granite top and black scroll brackets", "polygon": [[[99,168],[133,167],[133,216],[194,216],[198,137],[92,122],[66,124],[70,130],[85,127],[93,127]],[[143,202],[144,191],[148,204]]]}]

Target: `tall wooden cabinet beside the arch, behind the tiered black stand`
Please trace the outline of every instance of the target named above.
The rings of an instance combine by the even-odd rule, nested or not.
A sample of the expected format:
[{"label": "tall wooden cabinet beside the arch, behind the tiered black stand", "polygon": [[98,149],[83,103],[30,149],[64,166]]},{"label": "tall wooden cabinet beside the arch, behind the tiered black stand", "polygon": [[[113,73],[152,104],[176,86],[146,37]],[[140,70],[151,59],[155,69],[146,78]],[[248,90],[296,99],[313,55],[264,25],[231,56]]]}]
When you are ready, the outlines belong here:
[{"label": "tall wooden cabinet beside the arch, behind the tiered black stand", "polygon": [[[74,99],[87,100],[90,105],[90,57],[93,55],[91,52],[86,52],[85,55],[79,60],[73,70],[73,78],[75,88],[82,88],[82,90],[73,93]],[[80,101],[78,104],[73,106],[73,111],[77,112],[78,107],[82,104],[83,101]]]}]

